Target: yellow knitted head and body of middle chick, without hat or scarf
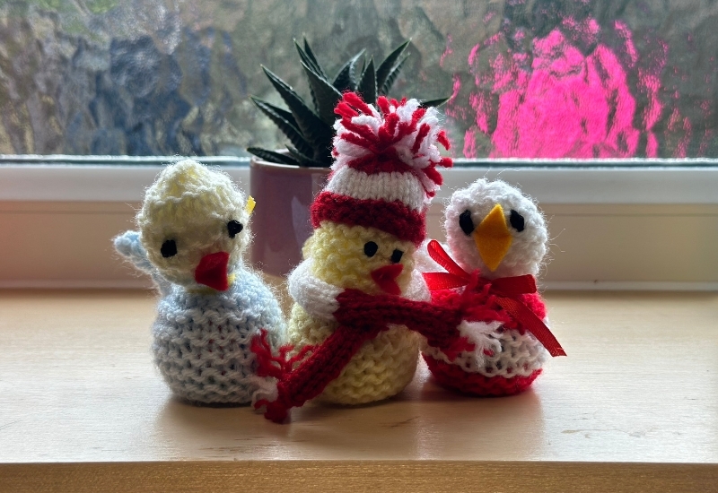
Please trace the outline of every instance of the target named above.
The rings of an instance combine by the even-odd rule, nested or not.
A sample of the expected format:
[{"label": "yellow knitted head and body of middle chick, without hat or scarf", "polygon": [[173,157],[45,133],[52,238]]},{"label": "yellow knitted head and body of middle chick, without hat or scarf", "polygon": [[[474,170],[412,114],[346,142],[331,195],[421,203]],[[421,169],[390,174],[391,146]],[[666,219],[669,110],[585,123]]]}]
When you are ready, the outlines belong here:
[{"label": "yellow knitted head and body of middle chick, without hat or scarf", "polygon": [[[367,247],[367,245],[369,247]],[[372,245],[376,246],[373,250]],[[368,294],[383,292],[372,272],[381,267],[401,264],[396,278],[405,294],[414,270],[414,245],[379,229],[322,222],[304,247],[311,263],[311,274],[339,289],[362,290]],[[372,255],[367,255],[372,253]],[[294,303],[289,322],[289,342],[296,348],[323,342],[337,328],[336,320],[310,316]],[[416,371],[420,337],[403,325],[396,325],[364,342],[340,376],[325,388],[319,399],[339,404],[363,404],[381,401],[398,394]]]}]

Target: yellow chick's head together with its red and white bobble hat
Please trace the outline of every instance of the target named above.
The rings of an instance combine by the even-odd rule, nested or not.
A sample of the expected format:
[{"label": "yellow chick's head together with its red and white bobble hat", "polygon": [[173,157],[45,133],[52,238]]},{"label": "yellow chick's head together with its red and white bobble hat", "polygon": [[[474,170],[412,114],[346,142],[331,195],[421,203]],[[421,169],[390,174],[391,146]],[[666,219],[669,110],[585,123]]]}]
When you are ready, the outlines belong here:
[{"label": "yellow chick's head together with its red and white bobble hat", "polygon": [[[398,294],[425,238],[425,215],[450,167],[436,110],[416,99],[381,97],[379,109],[352,92],[335,112],[335,162],[328,185],[311,205],[314,236],[305,255],[325,280],[368,292]],[[350,272],[350,273],[347,273]]]}]

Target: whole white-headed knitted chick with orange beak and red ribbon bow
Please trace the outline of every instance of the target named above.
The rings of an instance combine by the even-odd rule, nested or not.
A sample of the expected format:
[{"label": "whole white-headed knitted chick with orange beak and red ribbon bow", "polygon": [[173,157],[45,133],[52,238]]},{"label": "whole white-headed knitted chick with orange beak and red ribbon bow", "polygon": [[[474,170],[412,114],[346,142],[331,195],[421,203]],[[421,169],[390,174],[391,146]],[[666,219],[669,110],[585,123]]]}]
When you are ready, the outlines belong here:
[{"label": "whole white-headed knitted chick with orange beak and red ribbon bow", "polygon": [[450,252],[432,242],[428,253],[448,273],[425,278],[434,302],[462,310],[460,332],[475,348],[451,361],[427,346],[424,358],[444,386],[477,395],[520,393],[541,373],[549,351],[565,355],[536,292],[534,276],[547,250],[544,218],[516,188],[485,179],[451,195],[445,218]]}]

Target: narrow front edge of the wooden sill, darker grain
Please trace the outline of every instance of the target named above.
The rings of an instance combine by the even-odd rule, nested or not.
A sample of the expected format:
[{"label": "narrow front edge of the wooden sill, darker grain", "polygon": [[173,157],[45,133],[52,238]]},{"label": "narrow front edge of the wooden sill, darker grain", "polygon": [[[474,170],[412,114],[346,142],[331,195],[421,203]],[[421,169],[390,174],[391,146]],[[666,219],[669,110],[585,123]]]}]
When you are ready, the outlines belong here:
[{"label": "narrow front edge of the wooden sill, darker grain", "polygon": [[0,492],[718,491],[705,464],[280,461],[0,465]]}]

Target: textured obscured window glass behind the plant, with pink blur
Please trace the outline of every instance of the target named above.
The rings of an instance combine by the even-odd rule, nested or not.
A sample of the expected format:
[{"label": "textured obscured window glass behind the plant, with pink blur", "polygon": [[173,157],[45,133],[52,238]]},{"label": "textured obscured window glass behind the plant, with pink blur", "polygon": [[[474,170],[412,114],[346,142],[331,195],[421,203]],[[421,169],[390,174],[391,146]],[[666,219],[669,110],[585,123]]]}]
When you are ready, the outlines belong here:
[{"label": "textured obscured window glass behind the plant, with pink blur", "polygon": [[468,158],[718,157],[718,3],[698,0],[0,2],[0,153],[247,155],[284,138],[260,65],[307,98],[404,39],[392,96],[443,107]]}]

